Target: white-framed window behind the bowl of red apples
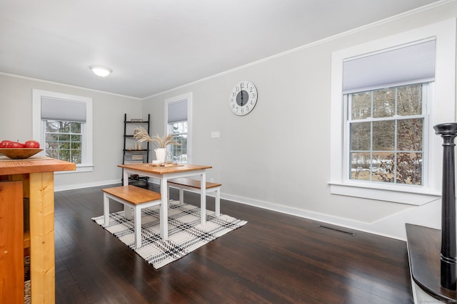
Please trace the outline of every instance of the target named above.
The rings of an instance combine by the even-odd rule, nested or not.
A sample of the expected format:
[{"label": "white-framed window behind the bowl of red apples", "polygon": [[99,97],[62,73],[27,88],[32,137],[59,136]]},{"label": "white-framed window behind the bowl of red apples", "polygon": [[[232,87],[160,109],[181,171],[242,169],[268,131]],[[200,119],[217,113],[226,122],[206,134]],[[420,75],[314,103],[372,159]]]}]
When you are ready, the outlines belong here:
[{"label": "white-framed window behind the bowl of red apples", "polygon": [[76,163],[76,172],[92,170],[92,99],[33,90],[34,139],[47,157]]}]

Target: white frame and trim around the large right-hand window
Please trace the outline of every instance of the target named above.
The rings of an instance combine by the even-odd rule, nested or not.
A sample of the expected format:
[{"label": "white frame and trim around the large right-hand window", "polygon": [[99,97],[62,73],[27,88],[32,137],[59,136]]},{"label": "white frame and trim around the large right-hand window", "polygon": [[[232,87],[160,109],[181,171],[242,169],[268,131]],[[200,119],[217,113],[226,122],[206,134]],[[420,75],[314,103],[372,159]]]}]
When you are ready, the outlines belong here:
[{"label": "white frame and trim around the large right-hand window", "polygon": [[[427,177],[422,187],[361,182],[348,179],[344,152],[343,61],[376,51],[395,48],[424,39],[436,39],[435,89],[428,112]],[[332,53],[331,58],[331,127],[330,127],[330,191],[331,194],[422,205],[441,196],[441,137],[433,125],[455,121],[456,84],[456,19],[449,19],[394,36],[363,43]],[[424,144],[425,145],[425,144]]]}]

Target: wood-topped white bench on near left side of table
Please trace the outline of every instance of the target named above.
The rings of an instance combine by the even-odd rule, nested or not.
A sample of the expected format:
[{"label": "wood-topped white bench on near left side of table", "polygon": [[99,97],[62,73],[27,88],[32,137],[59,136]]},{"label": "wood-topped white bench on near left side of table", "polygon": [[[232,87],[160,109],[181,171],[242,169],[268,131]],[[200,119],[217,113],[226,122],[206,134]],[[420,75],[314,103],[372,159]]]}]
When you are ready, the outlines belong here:
[{"label": "wood-topped white bench on near left side of table", "polygon": [[141,209],[161,204],[161,194],[133,185],[101,189],[104,224],[109,225],[109,199],[134,209],[135,248],[141,247]]}]

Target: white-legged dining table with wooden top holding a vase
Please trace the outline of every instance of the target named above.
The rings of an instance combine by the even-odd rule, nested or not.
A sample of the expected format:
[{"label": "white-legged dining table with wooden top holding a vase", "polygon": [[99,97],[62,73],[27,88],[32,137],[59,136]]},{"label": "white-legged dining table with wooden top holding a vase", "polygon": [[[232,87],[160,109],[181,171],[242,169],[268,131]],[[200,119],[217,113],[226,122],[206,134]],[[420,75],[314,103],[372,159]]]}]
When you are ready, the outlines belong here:
[{"label": "white-legged dining table with wooden top holding a vase", "polygon": [[[211,166],[199,164],[119,164],[118,167],[123,169],[124,186],[129,185],[129,176],[138,174],[143,177],[152,177],[160,181],[161,205],[160,205],[160,234],[163,240],[168,239],[168,208],[169,197],[167,191],[167,181],[179,177],[198,176],[201,182],[201,224],[206,222],[206,169]],[[124,207],[124,216],[131,219],[132,211],[129,207]]]}]

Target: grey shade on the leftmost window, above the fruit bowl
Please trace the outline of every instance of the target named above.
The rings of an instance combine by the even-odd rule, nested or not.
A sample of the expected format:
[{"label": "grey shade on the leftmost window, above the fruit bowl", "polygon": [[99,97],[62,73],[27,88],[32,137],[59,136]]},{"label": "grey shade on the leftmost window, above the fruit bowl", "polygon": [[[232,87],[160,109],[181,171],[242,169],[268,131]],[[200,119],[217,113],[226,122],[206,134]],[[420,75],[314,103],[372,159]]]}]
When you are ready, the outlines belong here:
[{"label": "grey shade on the leftmost window, above the fruit bowl", "polygon": [[86,103],[41,97],[41,119],[86,122]]}]

